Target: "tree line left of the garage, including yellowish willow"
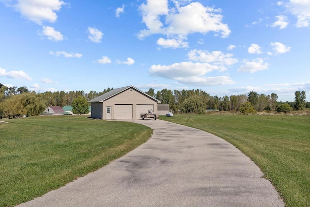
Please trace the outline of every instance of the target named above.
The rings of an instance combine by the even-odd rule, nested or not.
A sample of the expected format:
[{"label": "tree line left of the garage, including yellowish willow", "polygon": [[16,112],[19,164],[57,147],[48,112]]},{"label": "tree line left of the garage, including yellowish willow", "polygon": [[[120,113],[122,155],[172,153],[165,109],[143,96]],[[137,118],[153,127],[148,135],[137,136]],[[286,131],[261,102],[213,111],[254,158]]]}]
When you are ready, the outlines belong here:
[{"label": "tree line left of the garage, including yellowish willow", "polygon": [[[84,113],[88,107],[82,107],[80,104],[91,100],[97,96],[101,96],[113,88],[105,89],[102,92],[91,91],[85,93],[84,91],[55,91],[36,93],[29,91],[27,87],[6,87],[0,88],[0,118],[17,118],[23,116],[40,115],[47,106],[75,106],[73,111],[75,113]],[[82,98],[82,99],[80,99]],[[74,103],[76,101],[76,103]],[[88,104],[88,103],[87,103]],[[89,105],[89,104],[88,104]],[[76,111],[76,109],[78,109]]]}]

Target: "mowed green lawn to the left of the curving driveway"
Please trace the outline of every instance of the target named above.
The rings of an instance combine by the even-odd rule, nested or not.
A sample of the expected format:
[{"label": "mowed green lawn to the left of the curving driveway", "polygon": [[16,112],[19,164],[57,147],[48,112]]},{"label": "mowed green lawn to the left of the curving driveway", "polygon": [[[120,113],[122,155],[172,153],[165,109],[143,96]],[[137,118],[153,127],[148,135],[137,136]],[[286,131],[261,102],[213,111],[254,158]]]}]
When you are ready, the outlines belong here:
[{"label": "mowed green lawn to the left of the curving driveway", "polygon": [[0,206],[16,206],[101,168],[146,142],[152,129],[86,116],[0,122]]}]

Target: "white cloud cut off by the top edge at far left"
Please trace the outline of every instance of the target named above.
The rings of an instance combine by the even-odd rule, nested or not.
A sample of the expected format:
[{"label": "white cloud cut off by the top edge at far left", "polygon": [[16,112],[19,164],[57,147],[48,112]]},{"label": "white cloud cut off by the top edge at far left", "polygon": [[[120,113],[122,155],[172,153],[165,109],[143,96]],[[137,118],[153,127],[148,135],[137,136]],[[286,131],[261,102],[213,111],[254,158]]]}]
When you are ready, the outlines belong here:
[{"label": "white cloud cut off by the top edge at far left", "polygon": [[6,0],[6,5],[13,7],[26,19],[42,25],[44,21],[55,22],[55,12],[65,3],[62,0]]}]

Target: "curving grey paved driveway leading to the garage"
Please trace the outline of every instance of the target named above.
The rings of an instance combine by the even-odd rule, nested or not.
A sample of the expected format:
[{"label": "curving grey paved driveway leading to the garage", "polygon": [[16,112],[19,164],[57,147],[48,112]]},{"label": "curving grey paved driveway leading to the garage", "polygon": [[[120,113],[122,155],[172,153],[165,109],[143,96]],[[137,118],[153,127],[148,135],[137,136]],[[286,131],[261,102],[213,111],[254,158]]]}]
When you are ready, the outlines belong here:
[{"label": "curving grey paved driveway leading to the garage", "polygon": [[272,184],[236,147],[162,120],[149,141],[22,207],[283,207]]}]

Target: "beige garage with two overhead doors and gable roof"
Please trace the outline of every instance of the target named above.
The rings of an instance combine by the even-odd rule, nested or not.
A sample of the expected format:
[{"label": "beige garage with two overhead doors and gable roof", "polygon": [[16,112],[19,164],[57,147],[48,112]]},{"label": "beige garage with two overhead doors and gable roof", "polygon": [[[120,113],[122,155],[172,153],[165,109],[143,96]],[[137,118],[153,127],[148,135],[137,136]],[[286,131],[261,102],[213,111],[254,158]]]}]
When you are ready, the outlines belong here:
[{"label": "beige garage with two overhead doors and gable roof", "polygon": [[140,91],[134,86],[117,88],[89,101],[91,116],[99,119],[139,119],[140,113],[152,110],[157,113],[156,98]]}]

